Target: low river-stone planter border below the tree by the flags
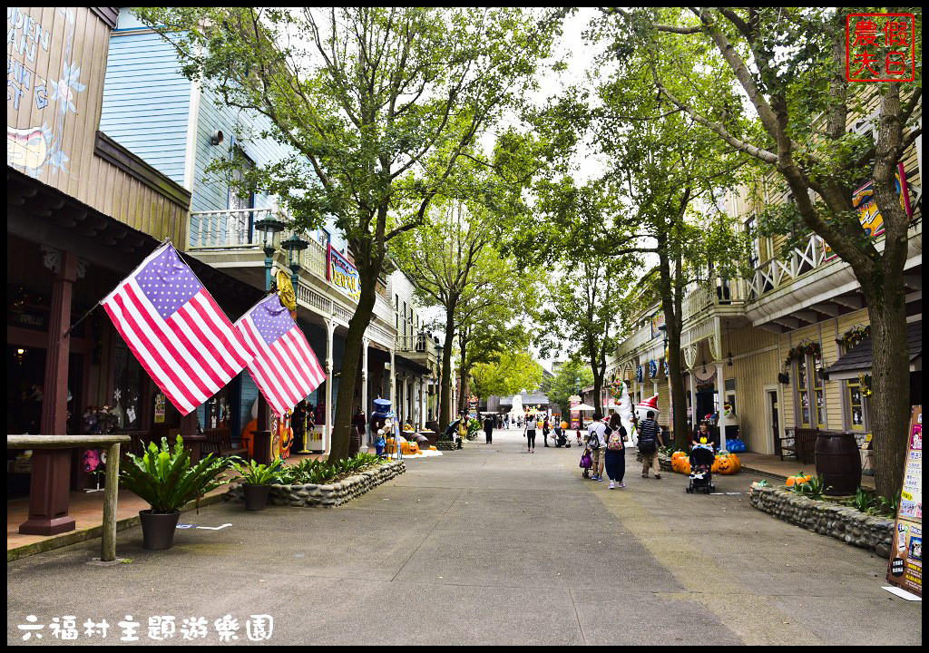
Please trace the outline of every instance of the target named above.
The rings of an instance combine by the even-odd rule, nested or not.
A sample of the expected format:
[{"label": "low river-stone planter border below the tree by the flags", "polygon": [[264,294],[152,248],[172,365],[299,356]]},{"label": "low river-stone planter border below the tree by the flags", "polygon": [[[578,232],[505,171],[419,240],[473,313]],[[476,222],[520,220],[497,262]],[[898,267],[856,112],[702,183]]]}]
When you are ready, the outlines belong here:
[{"label": "low river-stone planter border below the tree by the flags", "polygon": [[[366,469],[353,477],[347,477],[338,483],[327,485],[272,485],[268,493],[268,503],[273,505],[292,505],[309,508],[315,506],[333,507],[360,497],[367,491],[385,483],[406,471],[403,461],[392,461],[373,469]],[[244,502],[242,483],[229,488],[226,499]]]}]

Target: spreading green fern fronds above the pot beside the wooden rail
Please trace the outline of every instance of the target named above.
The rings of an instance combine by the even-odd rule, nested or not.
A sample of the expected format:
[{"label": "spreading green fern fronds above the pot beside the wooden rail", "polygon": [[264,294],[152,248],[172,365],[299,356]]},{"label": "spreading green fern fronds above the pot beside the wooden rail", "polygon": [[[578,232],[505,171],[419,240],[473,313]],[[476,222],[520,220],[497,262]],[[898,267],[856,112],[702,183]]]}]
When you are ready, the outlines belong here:
[{"label": "spreading green fern fronds above the pot beside the wooden rail", "polygon": [[[159,448],[154,442],[143,456],[128,454],[128,462],[120,468],[120,484],[149,503],[157,514],[177,512],[185,503],[198,500],[225,482],[220,475],[233,461],[207,455],[200,463],[190,466],[190,451],[177,436],[174,449],[162,438]],[[218,478],[217,478],[218,477]]]}]

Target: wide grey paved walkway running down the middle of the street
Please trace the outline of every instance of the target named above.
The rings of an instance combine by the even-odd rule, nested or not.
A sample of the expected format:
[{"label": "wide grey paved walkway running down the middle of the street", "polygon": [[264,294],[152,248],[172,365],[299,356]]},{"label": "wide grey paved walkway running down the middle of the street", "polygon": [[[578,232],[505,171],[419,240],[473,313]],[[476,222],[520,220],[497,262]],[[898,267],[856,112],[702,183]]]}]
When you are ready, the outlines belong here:
[{"label": "wide grey paved walkway running down the middle of the street", "polygon": [[688,495],[630,454],[628,487],[608,490],[580,478],[577,448],[523,441],[412,460],[331,510],[210,506],[182,521],[231,526],[178,530],[170,551],[128,529],[131,564],[86,565],[98,542],[9,563],[7,643],[30,614],[204,617],[216,642],[214,620],[259,613],[276,644],[922,643],[922,604],[881,589],[886,561],[753,510],[758,477]]}]

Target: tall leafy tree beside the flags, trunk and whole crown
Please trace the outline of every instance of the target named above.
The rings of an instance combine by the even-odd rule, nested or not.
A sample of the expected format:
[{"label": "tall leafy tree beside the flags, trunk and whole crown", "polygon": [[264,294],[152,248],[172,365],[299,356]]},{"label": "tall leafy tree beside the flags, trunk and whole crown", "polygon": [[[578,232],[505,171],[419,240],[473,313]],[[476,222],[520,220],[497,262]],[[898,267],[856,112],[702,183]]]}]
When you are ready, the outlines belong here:
[{"label": "tall leafy tree beside the flags, trunk and whole crown", "polygon": [[[182,70],[230,107],[268,119],[261,136],[299,157],[248,181],[281,197],[294,227],[332,215],[360,276],[348,323],[331,455],[348,451],[362,346],[388,243],[417,229],[457,181],[462,153],[523,101],[563,12],[421,7],[169,7],[139,17]],[[222,164],[220,163],[220,166]]]}]

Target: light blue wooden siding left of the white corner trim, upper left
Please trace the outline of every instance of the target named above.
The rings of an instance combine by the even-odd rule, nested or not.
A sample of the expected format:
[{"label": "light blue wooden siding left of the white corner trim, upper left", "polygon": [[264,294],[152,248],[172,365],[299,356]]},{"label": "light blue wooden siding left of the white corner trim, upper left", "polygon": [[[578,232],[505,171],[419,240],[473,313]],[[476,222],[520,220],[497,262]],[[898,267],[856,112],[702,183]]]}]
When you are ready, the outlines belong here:
[{"label": "light blue wooden siding left of the white corner trim, upper left", "polygon": [[182,184],[190,82],[177,69],[174,49],[157,34],[114,31],[100,131]]}]

